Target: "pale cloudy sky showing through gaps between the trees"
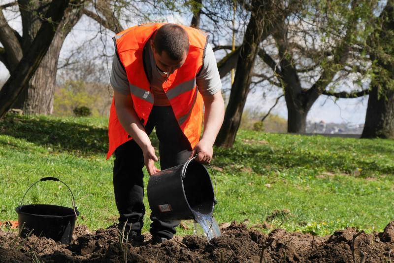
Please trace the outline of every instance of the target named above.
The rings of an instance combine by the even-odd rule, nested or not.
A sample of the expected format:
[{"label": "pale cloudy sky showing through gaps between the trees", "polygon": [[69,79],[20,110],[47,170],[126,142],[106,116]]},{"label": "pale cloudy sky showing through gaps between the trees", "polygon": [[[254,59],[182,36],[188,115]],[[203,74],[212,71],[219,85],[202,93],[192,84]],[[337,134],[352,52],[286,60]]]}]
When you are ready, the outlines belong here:
[{"label": "pale cloudy sky showing through gaps between the trees", "polygon": [[[0,4],[4,1],[0,0]],[[14,17],[15,15],[12,13],[5,13],[6,17]],[[189,20],[188,18],[183,18],[180,16],[167,16],[163,18],[167,22],[171,23],[183,23],[187,24]],[[10,21],[10,25],[21,34],[21,24],[19,18],[14,18]],[[61,50],[60,57],[66,57],[75,46],[81,45],[84,41],[89,38],[93,38],[97,34],[98,24],[93,22],[91,19],[83,16],[83,18],[77,23],[77,25],[73,28],[71,33],[67,36],[64,45]],[[102,48],[102,42],[107,45],[107,53],[112,52],[113,42],[110,37],[113,35],[112,32],[104,32],[104,35],[99,37],[95,44],[100,45],[101,48],[98,49],[98,52],[104,52]],[[101,39],[103,39],[101,41]],[[101,50],[101,51],[100,51]],[[219,58],[218,58],[219,59]],[[110,64],[111,59],[108,59],[108,66],[110,72]],[[0,63],[0,79],[6,79],[9,76],[7,69],[4,67],[2,63]],[[109,82],[109,75],[106,76],[107,81]],[[224,88],[230,88],[230,81],[225,79],[223,81]],[[262,113],[267,112],[272,105],[275,103],[276,98],[280,95],[279,92],[269,92],[267,94],[263,94],[261,89],[256,89],[256,91],[251,91],[246,101],[245,108],[252,109],[255,111],[260,111]],[[319,99],[315,102],[312,109],[308,113],[307,120],[312,122],[319,122],[324,120],[326,123],[335,122],[335,123],[349,123],[349,124],[361,124],[365,120],[365,113],[367,107],[367,96],[363,98],[356,99],[338,99],[334,100],[328,96],[320,96]],[[277,114],[285,119],[287,119],[287,109],[284,98],[282,97],[279,100],[279,103],[272,110],[271,113]]]}]

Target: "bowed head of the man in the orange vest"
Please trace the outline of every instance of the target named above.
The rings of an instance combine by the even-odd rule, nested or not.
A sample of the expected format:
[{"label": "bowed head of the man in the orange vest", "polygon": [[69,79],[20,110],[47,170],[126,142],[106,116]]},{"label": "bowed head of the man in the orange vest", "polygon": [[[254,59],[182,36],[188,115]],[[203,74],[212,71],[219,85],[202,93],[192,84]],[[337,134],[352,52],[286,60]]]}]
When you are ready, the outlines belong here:
[{"label": "bowed head of the man in the orange vest", "polygon": [[161,71],[171,74],[185,63],[189,38],[182,27],[165,24],[156,32],[151,44],[156,65]]}]

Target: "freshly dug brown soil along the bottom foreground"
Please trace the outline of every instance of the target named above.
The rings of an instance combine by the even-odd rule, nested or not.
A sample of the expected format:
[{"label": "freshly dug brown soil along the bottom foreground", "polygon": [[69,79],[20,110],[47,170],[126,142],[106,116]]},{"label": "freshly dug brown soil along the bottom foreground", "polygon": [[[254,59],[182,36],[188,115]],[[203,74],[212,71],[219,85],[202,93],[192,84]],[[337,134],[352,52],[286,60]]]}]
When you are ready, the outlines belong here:
[{"label": "freshly dug brown soil along the bottom foreground", "polygon": [[[349,227],[325,237],[274,229],[262,234],[232,222],[211,242],[188,235],[152,244],[119,241],[114,227],[90,232],[75,229],[70,245],[52,239],[17,237],[0,230],[0,262],[390,262],[394,259],[394,222],[382,233],[365,234]],[[358,236],[356,236],[358,235]],[[354,245],[353,245],[354,243]],[[363,255],[363,256],[362,256]]]}]

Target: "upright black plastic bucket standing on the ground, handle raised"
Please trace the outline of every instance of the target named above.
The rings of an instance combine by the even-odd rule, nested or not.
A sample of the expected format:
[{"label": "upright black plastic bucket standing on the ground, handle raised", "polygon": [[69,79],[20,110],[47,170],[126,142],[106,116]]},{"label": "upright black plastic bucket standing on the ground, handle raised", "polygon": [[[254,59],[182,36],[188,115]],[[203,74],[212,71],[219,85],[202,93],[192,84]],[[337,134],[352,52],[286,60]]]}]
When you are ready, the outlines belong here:
[{"label": "upright black plastic bucket standing on the ground, handle raised", "polygon": [[[30,188],[38,182],[48,180],[59,181],[68,188],[72,196],[72,205],[74,208],[48,204],[22,205],[23,199]],[[21,205],[15,208],[16,213],[18,213],[19,236],[26,237],[30,233],[36,236],[52,238],[56,242],[63,244],[69,244],[74,230],[75,219],[79,215],[71,189],[55,177],[42,178],[30,188],[23,196]]]}]

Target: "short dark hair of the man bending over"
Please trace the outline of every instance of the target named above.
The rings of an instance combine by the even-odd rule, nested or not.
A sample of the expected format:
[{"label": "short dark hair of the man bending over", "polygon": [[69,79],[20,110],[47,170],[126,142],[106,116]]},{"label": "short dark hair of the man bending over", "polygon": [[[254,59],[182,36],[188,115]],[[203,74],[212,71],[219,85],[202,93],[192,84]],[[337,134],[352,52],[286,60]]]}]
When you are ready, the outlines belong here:
[{"label": "short dark hair of the man bending over", "polygon": [[181,26],[175,24],[165,24],[159,28],[153,43],[160,55],[166,51],[172,60],[181,60],[184,52],[189,52],[188,34]]}]

